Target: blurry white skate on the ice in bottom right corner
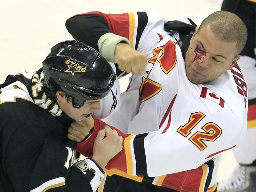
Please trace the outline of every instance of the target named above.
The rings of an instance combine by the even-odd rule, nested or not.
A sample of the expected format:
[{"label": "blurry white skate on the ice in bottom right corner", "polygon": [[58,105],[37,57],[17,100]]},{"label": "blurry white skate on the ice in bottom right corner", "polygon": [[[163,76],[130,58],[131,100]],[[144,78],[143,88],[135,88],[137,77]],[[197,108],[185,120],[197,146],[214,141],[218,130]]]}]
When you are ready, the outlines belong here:
[{"label": "blurry white skate on the ice in bottom right corner", "polygon": [[218,183],[218,192],[256,192],[256,166],[237,165],[231,178]]}]

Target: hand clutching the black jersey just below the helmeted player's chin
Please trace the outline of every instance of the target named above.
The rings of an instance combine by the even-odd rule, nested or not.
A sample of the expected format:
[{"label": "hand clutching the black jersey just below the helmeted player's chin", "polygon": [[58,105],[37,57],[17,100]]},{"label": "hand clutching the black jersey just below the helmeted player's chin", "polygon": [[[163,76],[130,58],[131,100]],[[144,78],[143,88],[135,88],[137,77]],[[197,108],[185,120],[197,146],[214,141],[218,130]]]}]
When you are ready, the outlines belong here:
[{"label": "hand clutching the black jersey just below the helmeted player's chin", "polygon": [[85,117],[82,121],[74,121],[68,128],[68,139],[81,142],[94,126],[92,116]]}]

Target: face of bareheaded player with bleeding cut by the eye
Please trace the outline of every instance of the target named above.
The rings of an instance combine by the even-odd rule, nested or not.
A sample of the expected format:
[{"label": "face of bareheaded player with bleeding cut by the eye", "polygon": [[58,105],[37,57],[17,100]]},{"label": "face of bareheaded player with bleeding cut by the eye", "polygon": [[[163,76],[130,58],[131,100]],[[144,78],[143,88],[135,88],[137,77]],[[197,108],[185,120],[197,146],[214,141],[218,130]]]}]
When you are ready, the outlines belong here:
[{"label": "face of bareheaded player with bleeding cut by the eye", "polygon": [[209,26],[196,28],[185,59],[189,81],[201,84],[217,79],[240,58],[235,52],[236,44],[220,40]]}]

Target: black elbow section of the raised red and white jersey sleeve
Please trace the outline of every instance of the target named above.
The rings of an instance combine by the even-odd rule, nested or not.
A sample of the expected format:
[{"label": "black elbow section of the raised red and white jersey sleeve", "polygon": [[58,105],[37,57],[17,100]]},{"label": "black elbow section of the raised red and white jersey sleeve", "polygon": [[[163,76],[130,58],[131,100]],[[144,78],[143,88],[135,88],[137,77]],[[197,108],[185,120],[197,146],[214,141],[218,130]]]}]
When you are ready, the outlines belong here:
[{"label": "black elbow section of the raised red and white jersey sleeve", "polygon": [[84,42],[98,50],[98,40],[105,33],[111,32],[102,15],[76,15],[66,21],[66,28],[74,39]]}]

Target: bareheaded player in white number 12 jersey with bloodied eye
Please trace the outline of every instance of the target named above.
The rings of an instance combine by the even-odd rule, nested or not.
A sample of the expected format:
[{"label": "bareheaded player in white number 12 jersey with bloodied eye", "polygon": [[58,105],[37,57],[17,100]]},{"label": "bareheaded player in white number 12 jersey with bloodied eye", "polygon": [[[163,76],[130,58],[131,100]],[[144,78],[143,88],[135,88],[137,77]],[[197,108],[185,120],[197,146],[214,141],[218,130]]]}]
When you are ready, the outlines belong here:
[{"label": "bareheaded player in white number 12 jersey with bloodied eye", "polygon": [[[246,131],[248,91],[236,61],[247,31],[228,12],[211,14],[189,35],[192,23],[166,22],[151,12],[89,12],[67,20],[75,39],[117,63],[117,75],[138,73],[147,60],[106,119],[128,134],[118,131],[124,147],[106,166],[122,177],[107,177],[98,191],[217,191],[220,153]],[[91,137],[76,148],[86,156],[105,125],[94,121]]]}]

